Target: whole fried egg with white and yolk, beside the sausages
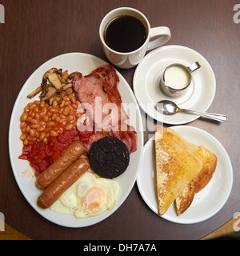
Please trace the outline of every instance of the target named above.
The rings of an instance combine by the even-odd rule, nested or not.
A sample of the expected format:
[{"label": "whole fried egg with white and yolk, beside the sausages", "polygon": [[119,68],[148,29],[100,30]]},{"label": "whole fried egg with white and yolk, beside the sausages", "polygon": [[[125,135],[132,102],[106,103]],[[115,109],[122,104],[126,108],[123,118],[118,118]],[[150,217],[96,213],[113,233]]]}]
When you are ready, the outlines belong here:
[{"label": "whole fried egg with white and yolk, beside the sausages", "polygon": [[86,172],[50,207],[58,213],[86,218],[112,210],[118,200],[118,182]]}]

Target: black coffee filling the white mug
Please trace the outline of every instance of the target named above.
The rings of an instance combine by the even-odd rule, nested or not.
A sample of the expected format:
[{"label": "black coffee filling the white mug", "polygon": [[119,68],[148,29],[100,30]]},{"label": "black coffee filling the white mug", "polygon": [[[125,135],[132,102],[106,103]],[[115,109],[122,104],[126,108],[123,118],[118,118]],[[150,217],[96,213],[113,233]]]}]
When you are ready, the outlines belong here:
[{"label": "black coffee filling the white mug", "polygon": [[146,41],[146,29],[138,18],[130,15],[118,16],[106,25],[104,40],[112,50],[127,53],[143,45]]}]

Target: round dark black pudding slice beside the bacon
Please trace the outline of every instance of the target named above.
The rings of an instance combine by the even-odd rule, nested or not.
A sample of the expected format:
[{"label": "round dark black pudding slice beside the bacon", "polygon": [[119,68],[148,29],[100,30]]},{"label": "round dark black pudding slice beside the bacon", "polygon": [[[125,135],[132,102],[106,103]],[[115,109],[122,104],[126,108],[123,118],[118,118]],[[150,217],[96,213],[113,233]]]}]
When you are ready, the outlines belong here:
[{"label": "round dark black pudding slice beside the bacon", "polygon": [[106,136],[92,144],[89,161],[96,174],[103,178],[116,178],[129,165],[130,154],[124,142],[118,138]]}]

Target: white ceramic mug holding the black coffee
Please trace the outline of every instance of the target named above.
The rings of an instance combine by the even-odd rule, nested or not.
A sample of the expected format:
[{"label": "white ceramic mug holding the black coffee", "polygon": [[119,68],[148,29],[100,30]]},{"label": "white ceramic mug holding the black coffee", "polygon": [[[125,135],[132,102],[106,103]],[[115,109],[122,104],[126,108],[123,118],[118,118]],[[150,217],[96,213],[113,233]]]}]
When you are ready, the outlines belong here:
[{"label": "white ceramic mug holding the black coffee", "polygon": [[[138,20],[142,22],[146,29],[146,41],[137,50],[128,53],[121,53],[111,49],[109,46],[106,45],[106,42],[104,40],[104,30],[106,29],[108,22],[110,22],[113,18],[121,15],[130,15],[134,16],[134,18],[138,18]],[[147,50],[152,50],[168,42],[170,40],[171,33],[170,29],[167,26],[158,26],[150,28],[150,23],[148,19],[139,10],[130,7],[120,7],[111,10],[102,19],[102,22],[99,27],[99,36],[102,42],[103,50],[106,54],[106,57],[110,60],[110,62],[114,66],[118,66],[119,68],[130,69],[138,65],[139,62],[141,62]],[[151,38],[156,39],[150,41]]]}]

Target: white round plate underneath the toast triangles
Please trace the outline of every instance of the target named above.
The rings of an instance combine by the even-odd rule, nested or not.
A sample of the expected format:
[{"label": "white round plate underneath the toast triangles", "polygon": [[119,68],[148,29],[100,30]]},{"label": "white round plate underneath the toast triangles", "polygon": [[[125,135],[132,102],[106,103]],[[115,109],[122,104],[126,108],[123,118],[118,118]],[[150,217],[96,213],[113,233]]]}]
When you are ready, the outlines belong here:
[{"label": "white round plate underneath the toast triangles", "polygon": [[[162,218],[170,222],[192,224],[205,221],[218,213],[229,198],[233,185],[233,169],[230,158],[220,142],[214,136],[204,130],[193,126],[174,126],[182,138],[198,146],[203,145],[206,149],[216,154],[218,158],[217,168],[213,178],[207,186],[195,194],[194,201],[185,213],[177,216],[174,203],[162,215]],[[158,202],[155,184],[155,150],[154,136],[150,138],[143,148],[142,165],[139,170],[137,184],[147,206],[158,214]]]}]

